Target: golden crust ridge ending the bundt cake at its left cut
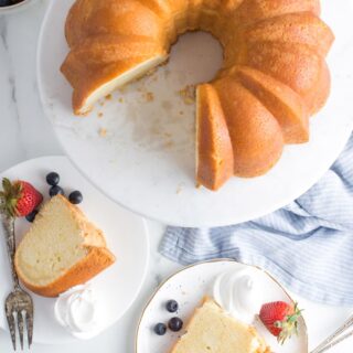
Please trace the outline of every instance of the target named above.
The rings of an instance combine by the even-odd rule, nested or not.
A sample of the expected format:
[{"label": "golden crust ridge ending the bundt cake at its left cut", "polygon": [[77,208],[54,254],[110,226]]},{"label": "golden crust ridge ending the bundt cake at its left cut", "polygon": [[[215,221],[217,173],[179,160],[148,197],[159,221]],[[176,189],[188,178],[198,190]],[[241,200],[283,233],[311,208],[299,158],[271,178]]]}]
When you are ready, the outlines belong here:
[{"label": "golden crust ridge ending the bundt cake at its left cut", "polygon": [[79,114],[89,95],[97,87],[113,81],[127,71],[149,60],[156,53],[165,55],[163,49],[145,36],[99,35],[82,40],[73,49],[61,71],[76,89],[73,93],[73,109]]}]

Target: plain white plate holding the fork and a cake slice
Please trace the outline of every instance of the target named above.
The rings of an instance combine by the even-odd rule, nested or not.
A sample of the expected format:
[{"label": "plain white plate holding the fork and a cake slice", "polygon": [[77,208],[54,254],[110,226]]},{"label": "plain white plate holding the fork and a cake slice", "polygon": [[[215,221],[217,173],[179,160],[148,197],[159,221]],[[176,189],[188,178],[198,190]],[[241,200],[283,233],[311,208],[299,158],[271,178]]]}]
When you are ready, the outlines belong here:
[{"label": "plain white plate holding the fork and a cake slice", "polygon": [[[137,298],[148,268],[149,240],[145,220],[117,206],[94,189],[76,171],[65,157],[45,157],[18,164],[2,173],[12,180],[31,182],[47,197],[49,185],[45,175],[50,171],[61,174],[61,185],[68,193],[79,190],[84,202],[79,207],[89,220],[106,234],[109,249],[117,261],[92,280],[97,299],[104,303],[107,318],[104,330],[118,321]],[[29,228],[25,220],[17,221],[17,237],[20,239]],[[10,268],[3,237],[0,237],[0,302],[11,291]],[[61,328],[53,315],[55,299],[33,295],[34,299],[34,342],[62,344],[75,340]],[[0,310],[0,328],[8,330],[3,310]]]}]

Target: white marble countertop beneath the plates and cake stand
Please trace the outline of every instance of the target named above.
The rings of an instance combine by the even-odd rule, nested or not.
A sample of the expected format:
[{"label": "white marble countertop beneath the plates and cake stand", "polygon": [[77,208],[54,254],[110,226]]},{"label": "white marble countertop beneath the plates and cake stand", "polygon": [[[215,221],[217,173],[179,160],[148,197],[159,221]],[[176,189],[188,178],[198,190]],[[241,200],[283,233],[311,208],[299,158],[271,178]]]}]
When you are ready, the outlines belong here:
[{"label": "white marble countertop beneath the plates and cake stand", "polygon": [[[39,0],[24,12],[0,17],[0,172],[26,159],[62,154],[42,111],[35,79],[36,42],[47,2]],[[148,222],[148,225],[151,239],[149,275],[138,300],[126,315],[92,341],[60,346],[34,344],[32,352],[133,352],[136,325],[147,299],[165,276],[181,267],[162,258],[157,252],[164,226],[154,222]],[[311,347],[336,329],[353,311],[350,308],[328,308],[304,300],[301,302],[307,308]],[[2,331],[0,342],[1,352],[12,352],[10,339]],[[332,350],[332,353],[349,352],[352,349],[353,339]]]}]

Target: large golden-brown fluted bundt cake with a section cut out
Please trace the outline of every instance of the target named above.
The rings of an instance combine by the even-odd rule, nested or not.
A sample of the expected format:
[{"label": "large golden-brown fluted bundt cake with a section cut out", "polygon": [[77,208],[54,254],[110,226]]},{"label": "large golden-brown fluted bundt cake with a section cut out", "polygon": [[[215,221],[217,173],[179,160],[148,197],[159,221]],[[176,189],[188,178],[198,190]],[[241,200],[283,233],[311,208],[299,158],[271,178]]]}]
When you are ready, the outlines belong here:
[{"label": "large golden-brown fluted bundt cake with a section cut out", "polygon": [[178,35],[210,32],[224,64],[196,89],[197,183],[261,175],[285,143],[308,141],[329,96],[334,36],[319,15],[319,0],[77,0],[62,65],[74,113],[165,62]]}]

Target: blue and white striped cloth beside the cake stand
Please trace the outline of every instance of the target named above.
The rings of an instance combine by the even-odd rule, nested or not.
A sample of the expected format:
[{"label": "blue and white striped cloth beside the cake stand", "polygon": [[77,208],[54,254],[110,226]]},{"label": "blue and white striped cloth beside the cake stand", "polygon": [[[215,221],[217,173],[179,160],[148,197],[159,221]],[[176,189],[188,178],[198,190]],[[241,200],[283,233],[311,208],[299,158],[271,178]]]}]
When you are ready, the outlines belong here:
[{"label": "blue and white striped cloth beside the cake stand", "polygon": [[184,265],[234,258],[303,298],[353,306],[353,136],[322,180],[290,205],[233,226],[168,227],[160,252]]}]

